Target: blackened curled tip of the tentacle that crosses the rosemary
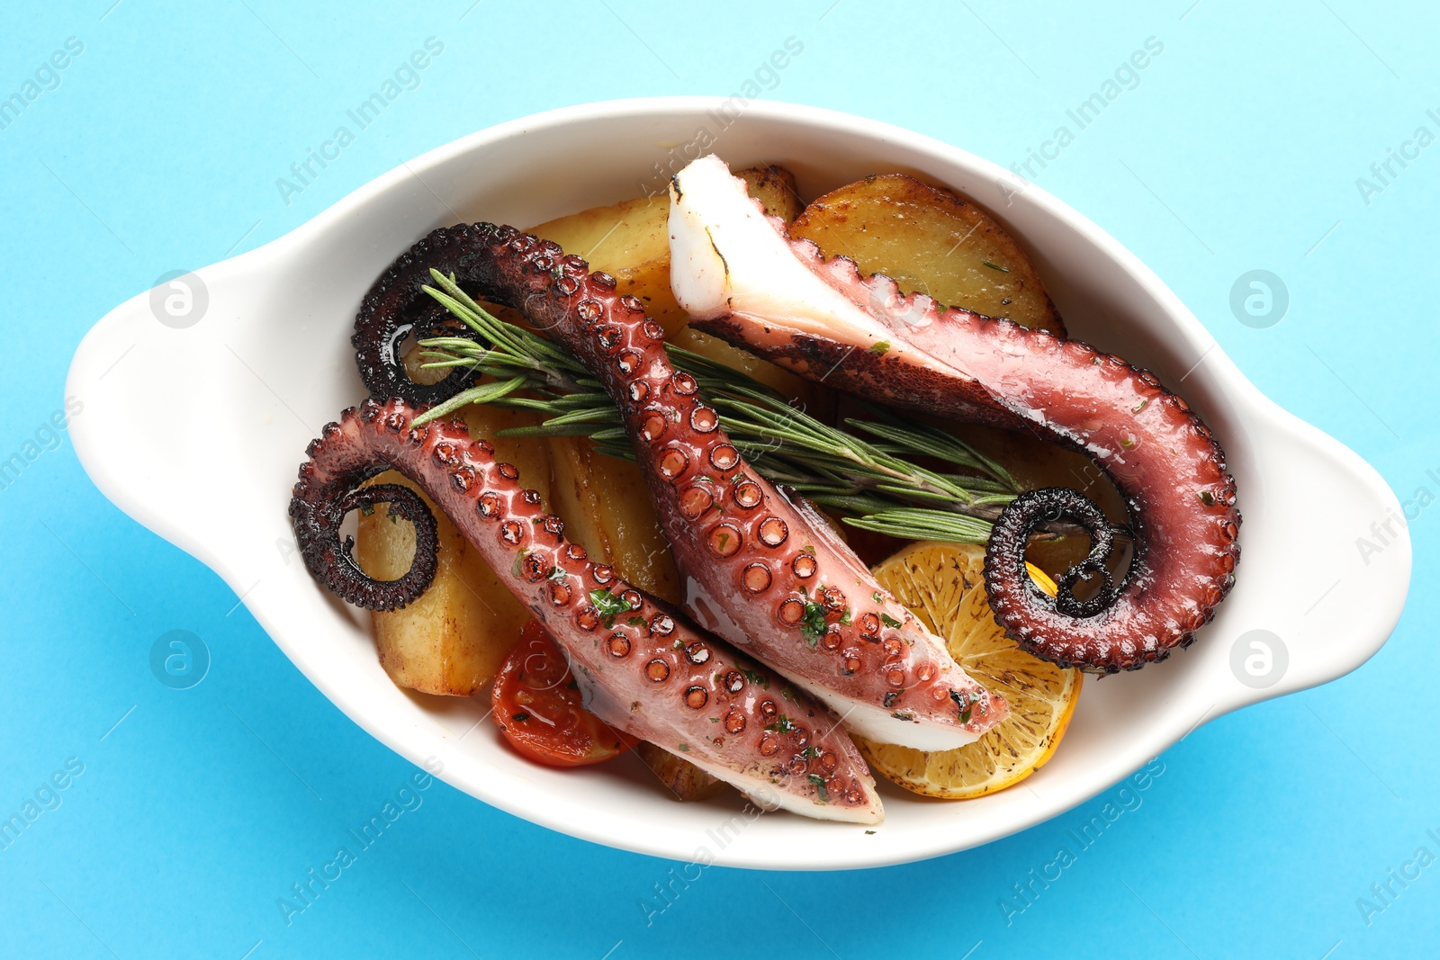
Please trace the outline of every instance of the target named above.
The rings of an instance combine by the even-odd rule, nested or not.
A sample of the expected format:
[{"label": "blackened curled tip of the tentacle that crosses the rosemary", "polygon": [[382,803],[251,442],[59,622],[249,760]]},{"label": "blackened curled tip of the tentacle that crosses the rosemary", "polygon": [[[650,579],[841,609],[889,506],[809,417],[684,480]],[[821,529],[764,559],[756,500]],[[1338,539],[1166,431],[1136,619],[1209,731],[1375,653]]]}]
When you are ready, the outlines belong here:
[{"label": "blackened curled tip of the tentacle that crosses the rosemary", "polygon": [[448,230],[435,230],[392,263],[360,302],[350,344],[356,348],[360,380],[372,397],[403,397],[412,404],[439,403],[475,379],[472,370],[456,367],[444,379],[422,384],[410,380],[400,363],[400,344],[412,332],[425,338],[444,327],[446,337],[474,338],[468,327],[452,324],[449,312],[423,289],[432,282],[431,266],[446,273],[462,266],[459,239]]}]

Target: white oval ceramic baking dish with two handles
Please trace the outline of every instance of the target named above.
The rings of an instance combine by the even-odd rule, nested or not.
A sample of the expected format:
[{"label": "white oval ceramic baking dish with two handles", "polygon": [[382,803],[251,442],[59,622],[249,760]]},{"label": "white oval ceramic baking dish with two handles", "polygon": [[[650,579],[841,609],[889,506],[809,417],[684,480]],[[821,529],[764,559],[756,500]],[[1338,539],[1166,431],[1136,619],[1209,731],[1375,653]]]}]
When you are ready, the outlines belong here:
[{"label": "white oval ceramic baking dish with two handles", "polygon": [[[1151,367],[1224,442],[1246,518],[1234,592],[1191,649],[1086,684],[1064,744],[1025,786],[936,802],[881,782],[886,820],[870,832],[746,816],[737,797],[677,803],[632,757],[540,767],[480,723],[488,698],[396,688],[376,659],[369,616],[305,573],[285,512],[291,485],[305,445],[364,397],[350,332],[360,296],[390,261],[441,225],[526,226],[662,191],[701,147],[733,167],[783,164],[805,197],[878,171],[975,197],[1034,255],[1071,335]],[[1404,604],[1408,540],[1368,566],[1352,547],[1398,510],[1374,469],[1261,396],[1165,284],[1083,216],[992,163],[876,121],[768,102],[732,118],[708,98],[553,111],[402,164],[292,233],[197,275],[209,305],[193,325],[158,322],[141,294],[81,344],[66,390],[85,402],[72,436],[91,478],[213,567],[315,687],[382,743],[415,763],[439,761],[444,780],[487,803],[599,843],[770,869],[878,866],[985,843],[1089,799],[1207,720],[1356,668]],[[168,429],[156,430],[161,409]],[[207,443],[202,459],[176,442],[186,436],[225,445]],[[1319,515],[1325,524],[1313,522]],[[1315,557],[1345,589],[1296,576]],[[1237,643],[1256,629],[1289,653],[1266,688],[1231,669]]]}]

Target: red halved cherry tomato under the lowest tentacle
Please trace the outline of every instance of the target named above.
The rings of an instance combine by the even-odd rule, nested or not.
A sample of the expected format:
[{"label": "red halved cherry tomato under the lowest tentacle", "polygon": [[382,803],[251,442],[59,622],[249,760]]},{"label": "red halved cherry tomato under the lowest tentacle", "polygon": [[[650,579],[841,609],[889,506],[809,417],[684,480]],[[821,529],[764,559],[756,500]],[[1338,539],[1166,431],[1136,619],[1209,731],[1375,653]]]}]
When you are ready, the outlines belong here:
[{"label": "red halved cherry tomato under the lowest tentacle", "polygon": [[570,665],[540,620],[520,630],[495,675],[490,702],[510,746],[552,767],[600,763],[639,743],[580,705]]}]

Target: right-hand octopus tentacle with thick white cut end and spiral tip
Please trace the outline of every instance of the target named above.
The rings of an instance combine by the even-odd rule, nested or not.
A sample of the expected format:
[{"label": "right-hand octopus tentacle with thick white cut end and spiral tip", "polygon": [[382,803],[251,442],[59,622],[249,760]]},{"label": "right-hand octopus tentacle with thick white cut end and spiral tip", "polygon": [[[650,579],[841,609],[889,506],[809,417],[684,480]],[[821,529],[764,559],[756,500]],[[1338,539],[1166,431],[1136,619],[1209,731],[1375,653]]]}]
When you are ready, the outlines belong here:
[{"label": "right-hand octopus tentacle with thick white cut end and spiral tip", "polygon": [[[672,246],[677,229],[687,229],[677,223],[680,199],[694,201],[700,184],[714,186],[713,180],[696,181],[697,189],[685,190],[690,170],[716,176],[701,166],[707,161],[719,164],[701,158],[675,177]],[[743,180],[730,180],[746,193]],[[985,577],[995,617],[1011,638],[1056,664],[1096,672],[1136,669],[1194,640],[1234,584],[1240,514],[1224,453],[1184,399],[1149,371],[1079,340],[945,308],[922,294],[904,295],[883,275],[863,278],[854,261],[827,261],[814,242],[791,239],[783,222],[763,216],[757,200],[749,200],[749,209],[762,210],[773,232],[773,249],[762,256],[792,258],[838,294],[840,305],[827,302],[831,312],[824,330],[768,309],[768,291],[752,278],[732,276],[737,258],[726,261],[723,243],[707,233],[704,243],[726,261],[726,294],[742,294],[687,298],[677,282],[677,298],[693,327],[861,397],[1030,430],[1089,455],[1125,497],[1135,535],[1130,567],[1103,609],[1089,616],[1057,609],[1024,566],[1028,534],[1040,520],[1056,518],[1044,517],[1045,508],[1064,504],[1064,512],[1076,515],[1068,504],[1084,498],[1057,497],[1047,504],[1044,497],[1027,497],[1027,504],[1017,501],[1015,512],[1001,515],[986,550]],[[674,255],[672,269],[683,269]],[[791,301],[805,296],[795,285],[783,292]],[[819,294],[812,301],[827,299]],[[1028,507],[1027,515],[1021,507]],[[1087,564],[1081,573],[1097,571],[1097,561]],[[1109,586],[1109,574],[1102,576]],[[1063,590],[1068,586],[1073,581],[1061,583]]]}]

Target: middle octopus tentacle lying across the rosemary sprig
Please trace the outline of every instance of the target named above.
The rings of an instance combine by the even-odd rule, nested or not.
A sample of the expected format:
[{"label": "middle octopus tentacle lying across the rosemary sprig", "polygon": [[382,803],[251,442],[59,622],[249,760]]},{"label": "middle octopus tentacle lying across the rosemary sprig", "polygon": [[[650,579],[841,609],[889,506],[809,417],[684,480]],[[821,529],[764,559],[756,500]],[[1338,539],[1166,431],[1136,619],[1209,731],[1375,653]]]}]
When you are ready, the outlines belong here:
[{"label": "middle octopus tentacle lying across the rosemary sprig", "polygon": [[664,330],[641,302],[557,245],[488,223],[435,230],[366,298],[387,307],[357,321],[363,374],[384,366],[372,345],[387,343],[406,304],[423,298],[432,266],[482,299],[518,308],[615,399],[685,580],[685,610],[701,628],[881,743],[953,748],[1008,714],[1004,698],[968,676],[821,517],[749,468],[694,377],[671,367]]}]

